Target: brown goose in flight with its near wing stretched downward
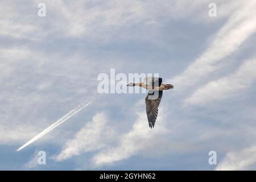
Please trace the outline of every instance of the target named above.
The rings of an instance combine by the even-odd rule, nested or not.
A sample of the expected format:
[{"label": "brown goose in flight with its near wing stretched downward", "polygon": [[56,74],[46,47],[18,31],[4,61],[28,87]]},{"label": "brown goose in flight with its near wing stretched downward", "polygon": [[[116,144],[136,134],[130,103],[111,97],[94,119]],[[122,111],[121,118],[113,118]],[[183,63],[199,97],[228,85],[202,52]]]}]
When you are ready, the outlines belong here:
[{"label": "brown goose in flight with its near wing stretched downward", "polygon": [[129,83],[127,86],[141,86],[148,90],[146,102],[146,113],[148,125],[152,129],[158,116],[158,107],[163,96],[163,90],[173,89],[174,85],[164,84],[162,78],[146,77],[143,82]]}]

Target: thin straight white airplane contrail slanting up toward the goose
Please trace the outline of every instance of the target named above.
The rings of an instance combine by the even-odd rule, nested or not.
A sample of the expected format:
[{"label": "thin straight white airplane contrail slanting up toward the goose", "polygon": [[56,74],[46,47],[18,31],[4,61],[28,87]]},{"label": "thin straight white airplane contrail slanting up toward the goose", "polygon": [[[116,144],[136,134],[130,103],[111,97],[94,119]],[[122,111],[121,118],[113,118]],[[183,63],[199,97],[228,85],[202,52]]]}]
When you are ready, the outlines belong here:
[{"label": "thin straight white airplane contrail slanting up toward the goose", "polygon": [[76,106],[75,109],[72,109],[71,111],[69,111],[68,114],[65,114],[62,118],[58,119],[56,122],[52,123],[52,125],[48,126],[46,129],[44,129],[41,133],[39,133],[38,135],[36,135],[34,138],[32,138],[31,140],[29,140],[27,143],[23,144],[23,146],[19,147],[16,151],[20,151],[23,148],[27,147],[29,144],[35,142],[35,140],[43,137],[43,135],[47,134],[49,131],[53,130],[55,127],[59,126],[61,123],[67,121],[67,119],[71,118],[73,115],[75,115],[76,113],[78,113],[79,111],[81,111],[82,109],[84,109],[86,106],[92,104],[92,102],[96,100],[96,97],[93,98],[92,101],[89,102],[84,102],[79,106]]}]

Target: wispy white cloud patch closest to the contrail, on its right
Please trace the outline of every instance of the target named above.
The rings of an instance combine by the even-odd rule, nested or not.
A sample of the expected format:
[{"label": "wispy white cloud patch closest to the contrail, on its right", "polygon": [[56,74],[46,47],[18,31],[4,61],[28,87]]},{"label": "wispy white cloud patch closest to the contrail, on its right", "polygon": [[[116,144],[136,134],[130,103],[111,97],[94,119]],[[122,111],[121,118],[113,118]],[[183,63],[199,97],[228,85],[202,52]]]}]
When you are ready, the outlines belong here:
[{"label": "wispy white cloud patch closest to the contrail, on its right", "polygon": [[97,113],[94,115],[92,121],[86,123],[75,137],[65,144],[63,150],[56,156],[56,160],[65,160],[105,147],[113,136],[113,130],[108,125],[110,123],[106,114]]}]

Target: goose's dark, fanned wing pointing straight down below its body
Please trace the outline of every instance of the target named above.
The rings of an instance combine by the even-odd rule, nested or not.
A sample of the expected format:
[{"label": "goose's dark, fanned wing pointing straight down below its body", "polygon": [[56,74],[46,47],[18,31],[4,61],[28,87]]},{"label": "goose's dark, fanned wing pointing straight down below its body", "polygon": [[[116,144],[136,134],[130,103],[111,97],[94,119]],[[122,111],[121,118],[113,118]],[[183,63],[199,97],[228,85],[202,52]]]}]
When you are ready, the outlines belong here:
[{"label": "goose's dark, fanned wing pointing straight down below its body", "polygon": [[156,117],[158,117],[158,106],[163,96],[163,91],[155,92],[159,93],[158,97],[155,99],[148,99],[150,96],[154,98],[154,93],[148,93],[147,97],[145,98],[148,125],[151,127],[151,129],[155,126]]}]

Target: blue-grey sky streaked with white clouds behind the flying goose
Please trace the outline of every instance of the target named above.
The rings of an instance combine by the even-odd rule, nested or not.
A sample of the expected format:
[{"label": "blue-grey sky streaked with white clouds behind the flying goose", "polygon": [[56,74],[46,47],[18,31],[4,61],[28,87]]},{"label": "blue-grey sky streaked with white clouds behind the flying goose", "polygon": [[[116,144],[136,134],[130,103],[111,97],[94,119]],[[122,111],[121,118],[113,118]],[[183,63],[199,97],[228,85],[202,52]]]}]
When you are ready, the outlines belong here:
[{"label": "blue-grey sky streaked with white clouds behind the flying goose", "polygon": [[[256,169],[254,0],[1,0],[0,11],[1,170]],[[154,129],[145,93],[100,94],[15,152],[98,96],[110,69],[174,85]]]}]

